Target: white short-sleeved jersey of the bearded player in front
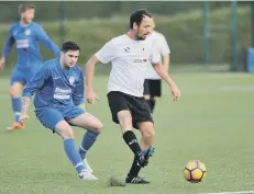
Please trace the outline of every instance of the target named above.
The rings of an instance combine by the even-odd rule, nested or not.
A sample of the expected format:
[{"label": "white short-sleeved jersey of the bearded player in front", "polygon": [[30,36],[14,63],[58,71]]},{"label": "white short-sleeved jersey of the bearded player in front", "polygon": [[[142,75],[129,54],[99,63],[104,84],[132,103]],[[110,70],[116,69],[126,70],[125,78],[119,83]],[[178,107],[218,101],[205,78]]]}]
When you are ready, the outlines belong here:
[{"label": "white short-sleeved jersey of the bearded player in front", "polygon": [[96,57],[102,64],[112,62],[108,93],[120,91],[134,96],[143,96],[143,84],[148,66],[161,60],[155,45],[156,43],[151,38],[134,41],[124,34],[112,38],[96,53]]}]

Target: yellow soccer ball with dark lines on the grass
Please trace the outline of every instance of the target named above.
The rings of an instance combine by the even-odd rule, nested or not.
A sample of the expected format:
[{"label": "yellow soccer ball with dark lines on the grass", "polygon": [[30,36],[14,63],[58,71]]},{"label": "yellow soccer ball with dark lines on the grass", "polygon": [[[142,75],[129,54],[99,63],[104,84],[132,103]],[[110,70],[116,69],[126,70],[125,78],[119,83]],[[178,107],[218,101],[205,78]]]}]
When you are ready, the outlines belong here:
[{"label": "yellow soccer ball with dark lines on the grass", "polygon": [[207,168],[202,162],[198,160],[191,160],[186,163],[184,174],[187,181],[191,183],[199,183],[205,179],[207,174]]}]

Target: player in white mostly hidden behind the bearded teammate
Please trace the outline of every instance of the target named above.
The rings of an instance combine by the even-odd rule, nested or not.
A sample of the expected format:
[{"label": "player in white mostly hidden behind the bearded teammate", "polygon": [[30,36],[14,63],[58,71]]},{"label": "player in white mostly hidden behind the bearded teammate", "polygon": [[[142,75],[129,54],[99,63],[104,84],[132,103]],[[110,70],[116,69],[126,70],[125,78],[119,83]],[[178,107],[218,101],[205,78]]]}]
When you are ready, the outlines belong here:
[{"label": "player in white mostly hidden behind the bearded teammate", "polygon": [[[153,28],[155,28],[155,23],[153,22]],[[162,33],[153,31],[147,38],[152,38],[157,44],[158,53],[162,57],[162,64],[164,65],[166,71],[169,68],[169,54],[170,49],[168,47],[167,41]],[[156,98],[162,96],[162,78],[156,73],[154,68],[151,66],[144,82],[144,98],[150,106],[151,113],[154,113]]]}]

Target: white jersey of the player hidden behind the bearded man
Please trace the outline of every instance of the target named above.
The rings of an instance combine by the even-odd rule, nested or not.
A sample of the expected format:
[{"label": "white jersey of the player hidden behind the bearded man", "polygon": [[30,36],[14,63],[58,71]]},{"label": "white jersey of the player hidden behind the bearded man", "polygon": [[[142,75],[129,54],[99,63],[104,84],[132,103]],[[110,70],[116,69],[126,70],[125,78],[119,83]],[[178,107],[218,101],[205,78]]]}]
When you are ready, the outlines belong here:
[{"label": "white jersey of the player hidden behind the bearded man", "polygon": [[[167,44],[167,41],[165,38],[165,36],[156,31],[153,31],[148,36],[147,38],[152,38],[152,41],[156,42],[157,43],[157,52],[159,53],[161,55],[161,60],[162,60],[162,57],[170,54],[170,49],[168,47],[168,44]],[[162,79],[157,72],[154,70],[154,68],[151,66],[151,68],[148,69],[147,71],[147,76],[146,76],[146,79],[151,79],[151,80],[158,80],[158,79]]]}]

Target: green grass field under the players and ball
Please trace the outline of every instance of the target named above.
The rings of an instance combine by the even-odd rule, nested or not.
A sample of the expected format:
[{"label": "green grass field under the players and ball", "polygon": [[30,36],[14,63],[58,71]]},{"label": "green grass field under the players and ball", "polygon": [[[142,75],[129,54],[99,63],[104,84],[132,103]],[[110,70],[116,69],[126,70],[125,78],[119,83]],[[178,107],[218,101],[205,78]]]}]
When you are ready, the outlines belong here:
[{"label": "green grass field under the players and ball", "polygon": [[[106,99],[106,77],[95,88],[101,101],[87,110],[104,124],[104,130],[88,153],[99,178],[80,181],[63,150],[59,137],[45,129],[33,110],[23,132],[4,132],[12,121],[9,79],[0,79],[0,193],[54,194],[197,194],[250,191],[254,184],[254,76],[246,73],[177,73],[181,89],[173,102],[167,85],[154,114],[156,151],[142,171],[152,184],[110,187],[111,175],[124,179],[132,162],[120,129],[111,122]],[[78,146],[84,132],[76,128]],[[140,136],[139,136],[140,137]],[[184,180],[183,169],[191,159],[208,168],[199,184]]]}]

